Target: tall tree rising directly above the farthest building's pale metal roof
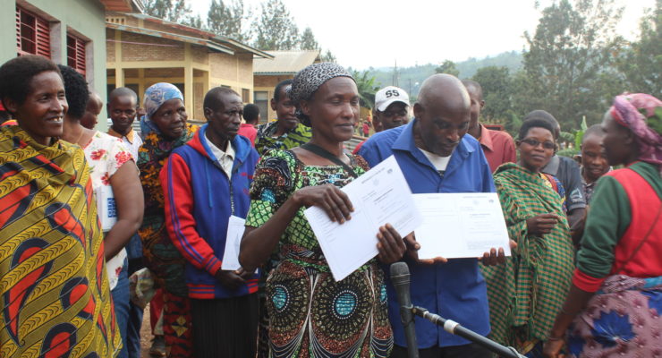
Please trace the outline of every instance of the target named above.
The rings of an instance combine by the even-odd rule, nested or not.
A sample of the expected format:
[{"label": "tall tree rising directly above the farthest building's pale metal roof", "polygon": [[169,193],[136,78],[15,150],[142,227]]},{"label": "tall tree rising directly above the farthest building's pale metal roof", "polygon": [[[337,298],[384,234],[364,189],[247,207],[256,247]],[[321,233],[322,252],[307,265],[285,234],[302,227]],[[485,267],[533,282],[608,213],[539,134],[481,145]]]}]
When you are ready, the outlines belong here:
[{"label": "tall tree rising directly above the farthest building's pale metal roof", "polygon": [[253,47],[265,50],[291,50],[297,47],[299,30],[282,0],[260,4],[259,18],[253,23]]}]

